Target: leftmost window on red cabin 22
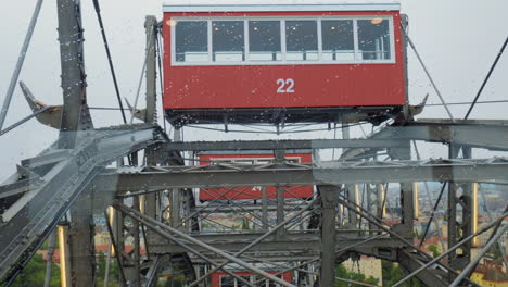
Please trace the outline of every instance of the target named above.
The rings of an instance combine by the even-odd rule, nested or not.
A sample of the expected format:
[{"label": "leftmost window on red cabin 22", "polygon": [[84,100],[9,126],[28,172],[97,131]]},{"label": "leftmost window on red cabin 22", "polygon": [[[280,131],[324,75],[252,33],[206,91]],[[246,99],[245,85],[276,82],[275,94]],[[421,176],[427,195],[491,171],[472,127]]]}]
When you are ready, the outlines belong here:
[{"label": "leftmost window on red cabin 22", "polygon": [[207,62],[208,33],[206,21],[181,21],[175,29],[177,62]]}]

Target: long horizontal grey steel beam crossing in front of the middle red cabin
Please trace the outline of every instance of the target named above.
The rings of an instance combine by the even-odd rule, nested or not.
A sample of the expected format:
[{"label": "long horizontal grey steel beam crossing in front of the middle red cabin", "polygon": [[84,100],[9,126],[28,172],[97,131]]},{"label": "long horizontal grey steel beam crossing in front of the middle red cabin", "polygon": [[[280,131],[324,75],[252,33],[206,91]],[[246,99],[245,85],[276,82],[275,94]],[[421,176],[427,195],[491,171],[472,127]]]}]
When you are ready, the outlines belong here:
[{"label": "long horizontal grey steel beam crossing in front of the middle red cabin", "polygon": [[109,169],[96,180],[100,191],[164,190],[230,186],[355,183],[478,182],[506,179],[508,159],[334,162],[285,165],[203,165]]}]

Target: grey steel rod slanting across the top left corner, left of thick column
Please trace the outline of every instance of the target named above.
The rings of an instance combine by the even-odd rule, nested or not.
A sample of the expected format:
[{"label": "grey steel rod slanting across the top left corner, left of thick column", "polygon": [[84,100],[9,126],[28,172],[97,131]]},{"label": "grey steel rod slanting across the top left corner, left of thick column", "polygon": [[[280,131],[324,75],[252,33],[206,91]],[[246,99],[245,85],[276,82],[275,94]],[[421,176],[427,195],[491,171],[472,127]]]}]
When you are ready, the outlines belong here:
[{"label": "grey steel rod slanting across the top left corner, left of thick column", "polygon": [[5,122],[5,116],[9,111],[9,107],[11,105],[12,95],[14,93],[14,89],[16,88],[16,83],[20,78],[20,73],[23,68],[23,64],[25,63],[25,57],[28,51],[28,47],[30,46],[31,36],[34,35],[34,30],[37,25],[37,20],[39,18],[41,7],[42,0],[38,0],[34,9],[34,14],[31,15],[30,23],[28,24],[28,30],[26,32],[25,40],[23,41],[20,55],[17,57],[16,66],[14,68],[14,72],[12,73],[5,99],[3,99],[2,109],[0,110],[0,130],[2,129],[3,124]]}]

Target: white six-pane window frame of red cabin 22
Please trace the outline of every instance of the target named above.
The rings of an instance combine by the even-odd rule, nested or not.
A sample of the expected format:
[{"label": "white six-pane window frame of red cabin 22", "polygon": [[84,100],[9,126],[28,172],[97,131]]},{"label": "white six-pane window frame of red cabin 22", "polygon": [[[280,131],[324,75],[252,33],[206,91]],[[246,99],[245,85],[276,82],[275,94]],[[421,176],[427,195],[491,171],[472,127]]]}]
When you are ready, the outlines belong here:
[{"label": "white six-pane window frame of red cabin 22", "polygon": [[[390,37],[390,59],[381,60],[363,60],[359,54],[359,42],[358,42],[358,24],[360,20],[373,20],[382,18],[389,21],[389,37]],[[172,66],[221,66],[221,65],[319,65],[319,64],[395,64],[396,45],[395,45],[395,29],[394,29],[394,16],[393,15],[346,15],[346,16],[211,16],[211,17],[172,17],[178,25],[178,22],[206,22],[208,32],[208,61],[205,62],[177,62],[176,61],[176,25],[172,25],[170,28],[170,65]],[[313,61],[288,61],[287,60],[287,35],[285,35],[285,23],[287,21],[317,21],[317,37],[318,37],[318,60]],[[354,43],[354,60],[323,60],[322,57],[322,21],[341,21],[352,20],[353,21],[353,43]],[[244,60],[243,61],[213,61],[213,30],[212,22],[214,21],[243,21],[244,27]],[[280,41],[281,41],[281,60],[279,61],[251,61],[250,60],[250,22],[251,21],[279,21],[280,22]],[[172,22],[172,23],[175,23]]]}]

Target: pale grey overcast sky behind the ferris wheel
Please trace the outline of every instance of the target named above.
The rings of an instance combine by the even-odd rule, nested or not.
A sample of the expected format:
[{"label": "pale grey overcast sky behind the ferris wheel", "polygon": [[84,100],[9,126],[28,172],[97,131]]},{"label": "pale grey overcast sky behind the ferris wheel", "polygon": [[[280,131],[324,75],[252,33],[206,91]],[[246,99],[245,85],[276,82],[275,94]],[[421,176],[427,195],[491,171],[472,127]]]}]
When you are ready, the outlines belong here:
[{"label": "pale grey overcast sky behind the ferris wheel", "polygon": [[[3,101],[27,25],[35,7],[33,1],[4,1],[0,17],[0,100]],[[91,0],[82,2],[85,26],[85,59],[88,74],[88,100],[91,107],[116,107],[114,89],[106,64],[102,39]],[[339,1],[344,2],[344,1]],[[36,97],[48,104],[60,104],[60,55],[56,42],[55,0],[43,3],[38,26],[20,79]],[[448,102],[470,101],[487,73],[503,41],[508,36],[507,0],[403,0],[402,12],[409,15],[409,33],[426,64]],[[140,77],[145,15],[162,16],[162,1],[101,1],[102,14],[118,74],[123,97],[135,98]],[[482,100],[507,100],[508,52],[500,60]],[[439,99],[409,53],[409,90],[411,103],[430,93],[429,103]],[[462,117],[467,107],[454,105],[456,117]],[[472,118],[506,120],[508,103],[478,105]],[[30,113],[20,89],[16,89],[7,125]],[[93,112],[97,126],[120,123],[118,112]],[[420,117],[446,117],[442,107],[429,107]],[[206,137],[203,135],[207,135]],[[218,138],[216,135],[189,129],[186,139]],[[332,137],[318,133],[304,137]],[[223,137],[223,136],[220,136]],[[226,138],[244,138],[228,134]],[[251,138],[259,138],[259,135]],[[282,136],[281,136],[282,137]],[[288,136],[285,136],[288,137]],[[56,132],[30,121],[0,137],[2,166],[0,179],[14,171],[20,160],[36,155],[56,138]],[[432,157],[432,150],[427,153]]]}]

